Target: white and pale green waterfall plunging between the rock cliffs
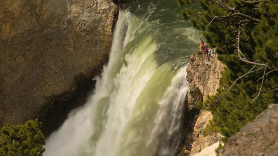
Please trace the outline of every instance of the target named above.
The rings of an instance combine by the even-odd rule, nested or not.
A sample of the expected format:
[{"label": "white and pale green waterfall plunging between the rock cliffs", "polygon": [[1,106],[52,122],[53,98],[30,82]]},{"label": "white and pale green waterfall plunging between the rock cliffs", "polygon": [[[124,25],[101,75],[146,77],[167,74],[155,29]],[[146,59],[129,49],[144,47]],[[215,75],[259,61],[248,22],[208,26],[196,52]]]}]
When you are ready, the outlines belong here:
[{"label": "white and pale green waterfall plunging between the rock cliffs", "polygon": [[[158,27],[154,21],[162,19],[150,20],[155,10],[148,16],[140,15],[140,6],[120,11],[94,93],[47,138],[44,155],[175,155],[188,90],[186,58],[200,32],[180,24],[171,31],[165,23]],[[181,39],[190,46],[177,44]]]}]

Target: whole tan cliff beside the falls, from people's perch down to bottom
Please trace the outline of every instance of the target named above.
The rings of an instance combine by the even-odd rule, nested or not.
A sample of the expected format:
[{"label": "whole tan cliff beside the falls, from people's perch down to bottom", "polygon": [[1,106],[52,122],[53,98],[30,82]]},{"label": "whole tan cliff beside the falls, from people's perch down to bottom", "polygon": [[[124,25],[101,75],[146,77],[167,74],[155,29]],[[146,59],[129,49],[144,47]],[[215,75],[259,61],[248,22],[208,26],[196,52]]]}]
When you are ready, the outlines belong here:
[{"label": "whole tan cliff beside the falls, from people's perch down to bottom", "polygon": [[[208,95],[214,95],[219,87],[221,71],[224,69],[224,64],[220,63],[217,56],[211,58],[210,65],[207,65],[200,52],[194,53],[189,59],[187,71],[187,81],[189,81],[189,92],[186,95],[187,110],[197,109],[196,104],[199,101],[205,101]],[[187,114],[188,112],[185,112]],[[185,115],[187,116],[187,115]],[[191,129],[184,131],[185,143],[179,155],[194,155],[202,149],[216,143],[220,139],[220,134],[215,136],[204,137],[202,129],[204,129],[209,120],[212,119],[212,114],[208,111],[200,110],[196,114],[192,122]]]}]

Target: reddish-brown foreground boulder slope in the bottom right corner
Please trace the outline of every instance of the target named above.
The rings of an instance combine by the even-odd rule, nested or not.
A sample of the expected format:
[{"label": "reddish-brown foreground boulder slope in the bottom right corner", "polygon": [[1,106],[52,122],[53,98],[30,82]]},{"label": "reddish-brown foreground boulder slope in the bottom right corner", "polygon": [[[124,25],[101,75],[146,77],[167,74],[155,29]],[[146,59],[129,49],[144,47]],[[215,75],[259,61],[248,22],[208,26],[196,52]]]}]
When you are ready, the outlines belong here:
[{"label": "reddish-brown foreground boulder slope in the bottom right corner", "polygon": [[278,155],[278,104],[270,104],[255,120],[232,135],[220,156]]}]

